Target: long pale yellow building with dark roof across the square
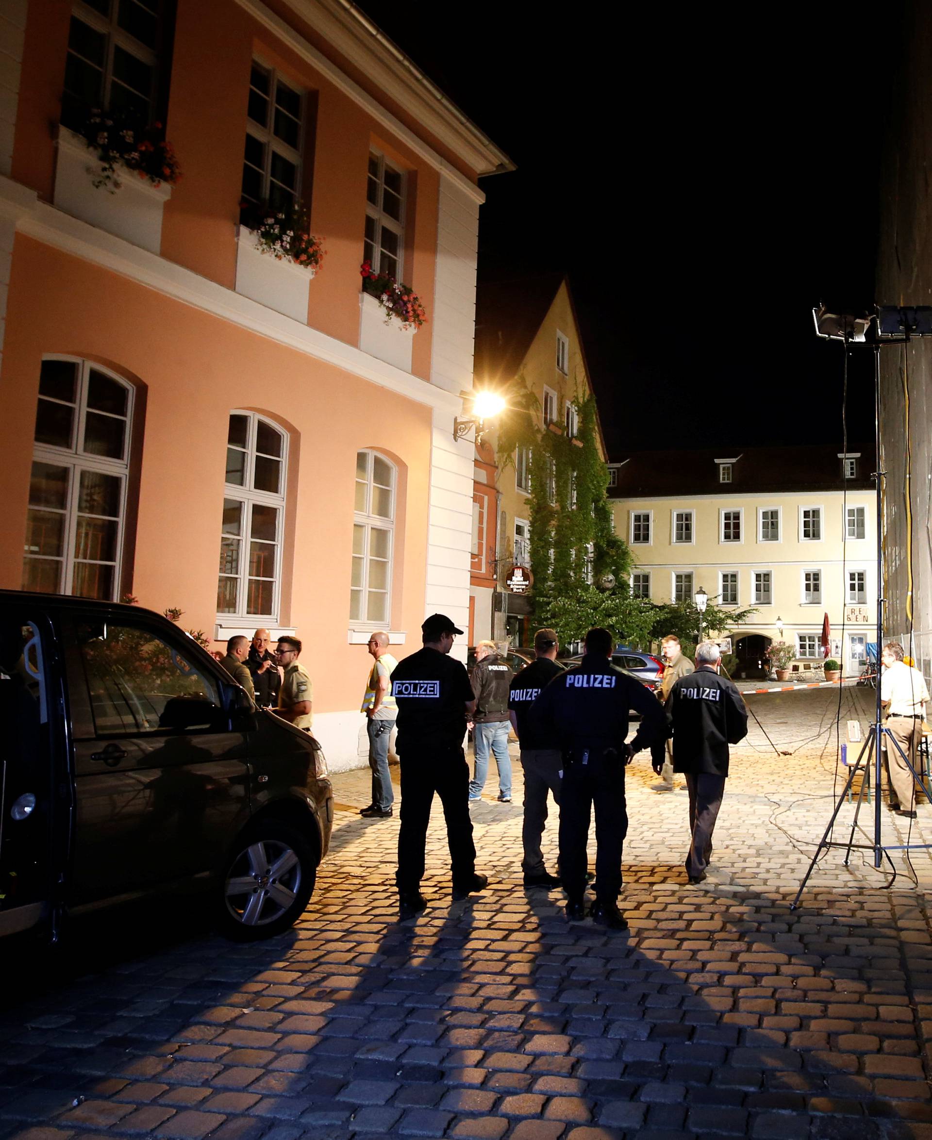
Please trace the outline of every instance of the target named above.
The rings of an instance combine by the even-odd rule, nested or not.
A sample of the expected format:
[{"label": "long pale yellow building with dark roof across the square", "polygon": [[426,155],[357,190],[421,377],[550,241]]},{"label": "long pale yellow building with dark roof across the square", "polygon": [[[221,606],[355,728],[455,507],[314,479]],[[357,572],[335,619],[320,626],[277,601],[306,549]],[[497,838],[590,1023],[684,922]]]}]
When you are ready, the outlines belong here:
[{"label": "long pale yellow building with dark roof across the square", "polygon": [[[771,641],[794,671],[832,657],[859,673],[876,640],[876,499],[870,448],[642,451],[609,466],[616,534],[631,548],[634,594],[689,600],[702,587],[736,627],[739,673],[761,676]],[[781,629],[781,633],[780,633]]]}]

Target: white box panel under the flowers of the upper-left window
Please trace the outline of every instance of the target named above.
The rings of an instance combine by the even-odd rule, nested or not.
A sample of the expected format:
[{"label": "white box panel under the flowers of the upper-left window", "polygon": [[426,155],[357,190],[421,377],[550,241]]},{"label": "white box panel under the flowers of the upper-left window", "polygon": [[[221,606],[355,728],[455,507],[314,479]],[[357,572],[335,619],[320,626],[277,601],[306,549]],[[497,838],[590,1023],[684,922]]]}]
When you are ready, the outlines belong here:
[{"label": "white box panel under the flowers of the upper-left window", "polygon": [[111,194],[94,185],[99,173],[100,161],[81,136],[59,127],[52,203],[107,234],[160,253],[162,210],[171,197],[171,187],[165,182],[153,186],[137,171],[124,170],[122,186]]}]

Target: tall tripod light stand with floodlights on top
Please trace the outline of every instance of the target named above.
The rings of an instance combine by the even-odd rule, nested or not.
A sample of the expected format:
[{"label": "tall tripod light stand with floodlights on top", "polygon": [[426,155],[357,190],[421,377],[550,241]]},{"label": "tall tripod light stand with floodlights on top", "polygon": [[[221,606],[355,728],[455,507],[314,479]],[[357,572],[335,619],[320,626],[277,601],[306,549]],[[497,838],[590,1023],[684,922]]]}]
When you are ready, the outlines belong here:
[{"label": "tall tripod light stand with floodlights on top", "polygon": [[[894,739],[892,733],[882,723],[882,707],[881,707],[881,669],[880,669],[880,654],[883,648],[883,622],[884,622],[884,603],[886,598],[883,596],[883,526],[882,526],[882,511],[883,511],[883,491],[884,491],[884,477],[886,472],[882,470],[881,463],[881,348],[883,344],[908,344],[913,336],[924,336],[929,335],[926,332],[927,320],[930,310],[917,310],[917,309],[890,309],[884,308],[878,311],[876,316],[869,318],[869,320],[856,320],[856,318],[842,317],[833,318],[836,324],[830,332],[824,332],[820,327],[820,312],[816,310],[813,314],[816,317],[816,329],[818,335],[828,336],[833,340],[842,340],[844,342],[844,351],[848,353],[849,344],[852,340],[852,333],[854,333],[858,324],[862,327],[857,334],[859,341],[864,340],[864,331],[870,321],[876,320],[877,325],[877,339],[873,342],[872,348],[874,349],[874,442],[877,456],[877,470],[875,472],[876,482],[876,522],[877,522],[877,685],[876,685],[876,701],[874,707],[874,722],[870,725],[870,733],[865,740],[860,752],[858,754],[858,759],[854,762],[854,766],[851,768],[845,781],[844,788],[838,796],[837,803],[835,804],[835,811],[832,813],[832,817],[828,821],[828,826],[825,829],[825,833],[819,840],[819,845],[816,848],[816,854],[812,856],[812,861],[803,876],[803,880],[800,883],[800,889],[796,891],[796,897],[793,899],[791,910],[795,910],[800,904],[800,898],[805,889],[809,878],[816,869],[816,863],[819,861],[820,855],[824,850],[829,847],[844,847],[844,865],[848,866],[851,861],[852,849],[870,850],[874,853],[874,866],[880,868],[883,862],[884,856],[889,860],[890,856],[888,852],[893,850],[922,850],[932,847],[932,844],[899,844],[891,845],[883,842],[883,817],[882,817],[882,803],[881,803],[881,769],[882,763],[881,757],[883,752],[883,741],[888,742],[888,747],[893,747],[902,757],[903,763],[908,767],[913,775],[914,784],[921,788],[923,791],[927,792],[929,789],[924,784],[923,780],[919,777],[916,769],[913,767],[907,755],[900,748],[899,742]],[[891,326],[891,319],[893,325]],[[890,334],[889,329],[895,327],[902,333],[901,336],[893,336]],[[886,332],[884,332],[886,329]],[[854,808],[854,819],[851,824],[851,833],[848,837],[848,842],[840,842],[832,839],[832,831],[835,826],[835,820],[842,809],[842,805],[849,795],[851,787],[854,782],[854,777],[860,772],[862,776],[872,774],[874,781],[874,836],[869,836],[864,828],[858,823],[858,817],[861,811],[861,804],[864,803],[864,791],[865,791],[865,780],[861,779],[861,787],[858,793],[858,804]],[[869,842],[856,844],[854,833],[859,831],[865,839],[870,840]],[[892,862],[891,862],[892,865]]]}]

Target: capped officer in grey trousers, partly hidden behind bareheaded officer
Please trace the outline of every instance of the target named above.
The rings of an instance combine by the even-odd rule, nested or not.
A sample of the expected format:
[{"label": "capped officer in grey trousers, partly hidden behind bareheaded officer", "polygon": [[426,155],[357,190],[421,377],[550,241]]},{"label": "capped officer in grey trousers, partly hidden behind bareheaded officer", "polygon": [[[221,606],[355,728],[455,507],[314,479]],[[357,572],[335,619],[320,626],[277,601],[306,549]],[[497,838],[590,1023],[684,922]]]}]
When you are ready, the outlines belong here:
[{"label": "capped officer in grey trousers, partly hidden behind bareheaded officer", "polygon": [[535,660],[525,666],[511,682],[508,715],[521,747],[521,768],[525,773],[525,819],[521,828],[524,858],[521,870],[526,887],[559,887],[560,880],[544,865],[541,836],[546,823],[546,796],[553,793],[560,803],[560,768],[562,754],[553,741],[541,734],[534,723],[530,706],[537,694],[564,671],[557,665],[557,634],[538,629],[534,635]]}]

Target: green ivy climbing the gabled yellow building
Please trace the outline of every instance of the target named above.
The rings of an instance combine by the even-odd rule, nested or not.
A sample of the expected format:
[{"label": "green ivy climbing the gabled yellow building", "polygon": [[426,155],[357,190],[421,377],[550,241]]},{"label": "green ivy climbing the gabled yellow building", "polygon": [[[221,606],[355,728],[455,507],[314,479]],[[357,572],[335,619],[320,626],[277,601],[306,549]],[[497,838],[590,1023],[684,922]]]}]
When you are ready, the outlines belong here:
[{"label": "green ivy climbing the gabled yellow building", "polygon": [[[536,620],[552,625],[564,643],[578,641],[593,625],[618,630],[619,636],[643,630],[645,606],[631,598],[626,585],[631,556],[611,526],[594,398],[578,392],[574,398],[574,439],[562,424],[540,427],[540,401],[522,377],[503,394],[509,410],[499,425],[499,463],[513,464],[519,447],[530,451],[530,600]],[[586,581],[587,576],[599,581],[605,575],[615,578],[614,589],[602,593]]]}]

